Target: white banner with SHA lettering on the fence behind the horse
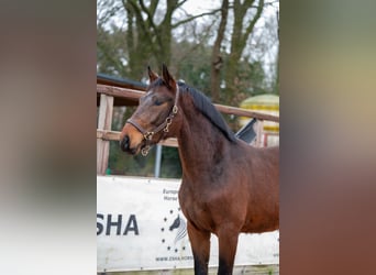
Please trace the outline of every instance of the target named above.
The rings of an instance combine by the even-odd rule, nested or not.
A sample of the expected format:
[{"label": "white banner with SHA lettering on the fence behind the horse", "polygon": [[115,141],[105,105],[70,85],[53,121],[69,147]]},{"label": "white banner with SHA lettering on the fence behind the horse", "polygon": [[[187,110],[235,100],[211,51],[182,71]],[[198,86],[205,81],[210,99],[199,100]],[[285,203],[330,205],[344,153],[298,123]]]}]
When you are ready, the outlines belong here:
[{"label": "white banner with SHA lettering on the fence behind the horse", "polygon": [[[180,180],[97,177],[98,272],[192,268]],[[218,266],[211,237],[209,266]],[[279,231],[241,234],[235,265],[279,263]]]}]

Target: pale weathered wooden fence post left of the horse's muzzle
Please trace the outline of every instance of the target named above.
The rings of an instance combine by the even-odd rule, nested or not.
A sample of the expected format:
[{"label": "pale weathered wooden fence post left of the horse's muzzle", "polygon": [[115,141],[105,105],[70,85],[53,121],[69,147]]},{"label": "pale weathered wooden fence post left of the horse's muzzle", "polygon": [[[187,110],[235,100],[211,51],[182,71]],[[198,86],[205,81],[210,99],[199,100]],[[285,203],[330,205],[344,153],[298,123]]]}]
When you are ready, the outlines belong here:
[{"label": "pale weathered wooden fence post left of the horse's muzzle", "polygon": [[[98,129],[111,131],[113,97],[100,95]],[[109,164],[110,141],[97,139],[97,174],[104,175]]]}]

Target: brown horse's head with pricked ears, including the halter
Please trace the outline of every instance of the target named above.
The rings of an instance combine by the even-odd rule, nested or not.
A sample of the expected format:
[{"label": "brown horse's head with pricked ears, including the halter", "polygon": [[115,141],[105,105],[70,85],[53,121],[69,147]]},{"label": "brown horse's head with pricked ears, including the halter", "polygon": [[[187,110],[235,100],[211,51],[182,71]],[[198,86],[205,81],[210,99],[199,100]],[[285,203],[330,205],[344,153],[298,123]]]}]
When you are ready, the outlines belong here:
[{"label": "brown horse's head with pricked ears, including the halter", "polygon": [[166,65],[162,77],[148,67],[148,77],[146,95],[120,134],[121,150],[133,155],[147,155],[152,145],[176,132],[179,88]]}]

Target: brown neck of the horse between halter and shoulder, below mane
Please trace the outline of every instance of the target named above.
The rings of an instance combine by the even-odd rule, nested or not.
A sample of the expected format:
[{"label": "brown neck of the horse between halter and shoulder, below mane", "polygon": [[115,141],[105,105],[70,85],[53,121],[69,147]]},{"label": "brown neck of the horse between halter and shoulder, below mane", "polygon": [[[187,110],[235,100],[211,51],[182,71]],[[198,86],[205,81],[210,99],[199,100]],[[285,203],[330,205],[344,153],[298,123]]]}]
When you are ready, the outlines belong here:
[{"label": "brown neck of the horse between halter and shoulder, below mane", "polygon": [[228,153],[230,142],[192,105],[185,103],[183,122],[177,136],[185,177],[202,177],[202,170],[217,169]]}]

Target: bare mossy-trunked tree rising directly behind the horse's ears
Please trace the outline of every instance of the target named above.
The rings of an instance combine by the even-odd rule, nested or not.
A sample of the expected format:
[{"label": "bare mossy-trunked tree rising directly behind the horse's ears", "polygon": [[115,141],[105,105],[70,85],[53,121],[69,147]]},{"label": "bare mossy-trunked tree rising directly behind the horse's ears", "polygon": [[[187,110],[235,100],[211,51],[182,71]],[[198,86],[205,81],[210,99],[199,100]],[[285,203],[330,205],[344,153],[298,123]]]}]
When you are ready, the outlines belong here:
[{"label": "bare mossy-trunked tree rising directly behind the horse's ears", "polygon": [[[112,1],[115,8],[109,8],[109,12],[117,12],[118,3]],[[174,14],[187,0],[144,1],[121,0],[124,14],[126,14],[126,28],[124,44],[126,44],[128,77],[140,78],[147,65],[170,64],[173,30],[187,24],[198,18],[215,14],[220,10],[188,15],[180,20],[174,20]],[[102,18],[108,19],[108,15]],[[106,50],[102,47],[102,50]]]}]

